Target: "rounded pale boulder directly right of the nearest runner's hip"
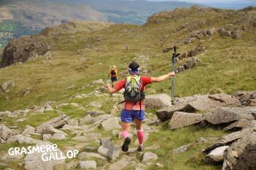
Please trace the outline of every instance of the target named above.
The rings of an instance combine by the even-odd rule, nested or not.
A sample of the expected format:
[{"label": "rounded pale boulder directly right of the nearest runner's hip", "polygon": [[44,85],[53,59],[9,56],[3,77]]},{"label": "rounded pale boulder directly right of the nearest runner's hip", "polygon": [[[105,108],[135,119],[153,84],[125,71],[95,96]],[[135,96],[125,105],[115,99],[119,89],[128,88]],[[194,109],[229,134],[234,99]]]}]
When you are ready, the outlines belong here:
[{"label": "rounded pale boulder directly right of the nearest runner's hip", "polygon": [[146,96],[144,102],[148,109],[171,107],[171,98],[167,94],[154,94]]}]

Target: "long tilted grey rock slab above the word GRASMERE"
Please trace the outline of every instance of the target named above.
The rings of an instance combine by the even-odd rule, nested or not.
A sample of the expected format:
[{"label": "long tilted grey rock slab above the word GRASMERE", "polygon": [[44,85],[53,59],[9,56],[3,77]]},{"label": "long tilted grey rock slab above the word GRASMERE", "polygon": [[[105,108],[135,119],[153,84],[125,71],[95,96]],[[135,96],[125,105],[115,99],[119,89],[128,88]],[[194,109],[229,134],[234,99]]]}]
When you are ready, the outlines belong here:
[{"label": "long tilted grey rock slab above the word GRASMERE", "polygon": [[37,126],[36,132],[42,134],[43,130],[48,126],[53,126],[53,128],[62,128],[64,125],[67,124],[67,116],[61,115],[59,117],[55,117],[48,122],[42,123],[41,125]]}]

